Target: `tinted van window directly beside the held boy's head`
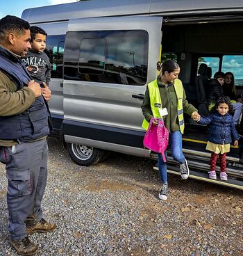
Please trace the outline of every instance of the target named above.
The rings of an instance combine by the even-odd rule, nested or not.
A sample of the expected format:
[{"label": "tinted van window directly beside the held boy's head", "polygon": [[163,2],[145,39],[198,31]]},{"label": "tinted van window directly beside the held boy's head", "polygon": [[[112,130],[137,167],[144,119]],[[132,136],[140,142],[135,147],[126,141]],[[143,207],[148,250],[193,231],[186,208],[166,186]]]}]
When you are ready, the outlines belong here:
[{"label": "tinted van window directly beside the held boy's head", "polygon": [[65,35],[47,35],[45,53],[50,59],[52,78],[62,78],[64,43]]}]

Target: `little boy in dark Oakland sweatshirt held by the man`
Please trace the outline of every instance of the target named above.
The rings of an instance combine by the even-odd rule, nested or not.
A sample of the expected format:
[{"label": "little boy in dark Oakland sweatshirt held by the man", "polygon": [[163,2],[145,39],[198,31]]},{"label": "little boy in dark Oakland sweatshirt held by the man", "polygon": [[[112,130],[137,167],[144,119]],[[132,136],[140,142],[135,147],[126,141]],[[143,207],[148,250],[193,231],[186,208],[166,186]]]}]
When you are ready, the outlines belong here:
[{"label": "little boy in dark Oakland sweatshirt held by the man", "polygon": [[51,97],[49,82],[51,80],[51,63],[49,57],[44,53],[46,48],[47,33],[37,27],[31,26],[31,49],[23,58],[26,68],[35,82],[40,83],[42,95],[46,100]]}]

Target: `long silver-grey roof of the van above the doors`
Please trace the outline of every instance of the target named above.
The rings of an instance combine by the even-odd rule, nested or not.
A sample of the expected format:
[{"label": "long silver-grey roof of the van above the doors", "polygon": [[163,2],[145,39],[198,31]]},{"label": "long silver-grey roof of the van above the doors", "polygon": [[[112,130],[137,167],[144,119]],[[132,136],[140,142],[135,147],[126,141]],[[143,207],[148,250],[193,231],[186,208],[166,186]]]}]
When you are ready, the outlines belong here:
[{"label": "long silver-grey roof of the van above the doors", "polygon": [[22,19],[30,23],[124,15],[215,15],[243,12],[242,0],[89,0],[29,8]]}]

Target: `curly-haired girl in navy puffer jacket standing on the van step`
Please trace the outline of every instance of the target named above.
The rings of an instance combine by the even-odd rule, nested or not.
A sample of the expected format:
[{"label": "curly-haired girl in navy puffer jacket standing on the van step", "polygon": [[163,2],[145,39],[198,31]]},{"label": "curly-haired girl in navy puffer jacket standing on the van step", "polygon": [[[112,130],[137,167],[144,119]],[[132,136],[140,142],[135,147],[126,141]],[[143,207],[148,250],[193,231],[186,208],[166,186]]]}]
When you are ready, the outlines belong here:
[{"label": "curly-haired girl in navy puffer jacket standing on the van step", "polygon": [[[210,159],[210,179],[217,179],[216,163],[219,157],[220,161],[220,179],[227,180],[226,174],[226,153],[230,151],[232,138],[237,147],[239,136],[235,129],[233,116],[228,113],[232,105],[228,97],[219,97],[208,117],[196,119],[201,125],[210,125],[208,131],[208,143],[206,150],[211,151]],[[195,120],[195,119],[194,119]]]}]

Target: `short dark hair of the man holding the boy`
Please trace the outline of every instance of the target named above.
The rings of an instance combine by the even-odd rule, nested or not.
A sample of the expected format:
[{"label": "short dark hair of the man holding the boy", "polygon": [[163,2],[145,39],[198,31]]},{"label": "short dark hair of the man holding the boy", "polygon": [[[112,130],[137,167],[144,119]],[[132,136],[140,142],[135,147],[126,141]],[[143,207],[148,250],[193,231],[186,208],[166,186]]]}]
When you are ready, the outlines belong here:
[{"label": "short dark hair of the man holding the boy", "polygon": [[17,34],[24,34],[25,30],[30,29],[30,24],[24,19],[16,16],[7,15],[0,19],[0,39],[6,38],[6,33],[14,32]]}]

